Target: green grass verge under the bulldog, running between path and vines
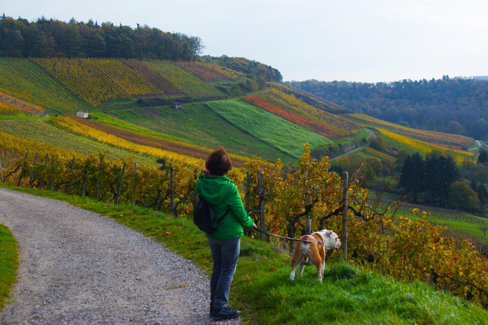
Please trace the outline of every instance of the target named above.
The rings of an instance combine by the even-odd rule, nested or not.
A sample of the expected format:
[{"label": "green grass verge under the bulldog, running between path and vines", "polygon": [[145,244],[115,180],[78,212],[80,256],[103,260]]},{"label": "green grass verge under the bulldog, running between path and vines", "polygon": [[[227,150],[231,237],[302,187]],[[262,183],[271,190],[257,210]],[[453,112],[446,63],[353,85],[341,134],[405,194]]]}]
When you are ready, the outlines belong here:
[{"label": "green grass verge under the bulldog, running between path and vines", "polygon": [[[189,220],[139,207],[110,206],[86,197],[1,186],[107,215],[189,258],[207,274],[211,272],[206,237]],[[326,264],[322,284],[313,267],[305,268],[302,278],[290,281],[290,258],[276,250],[267,243],[242,238],[230,304],[242,310],[243,323],[488,324],[488,312],[480,306],[434,291],[424,283],[398,283],[347,264]]]}]

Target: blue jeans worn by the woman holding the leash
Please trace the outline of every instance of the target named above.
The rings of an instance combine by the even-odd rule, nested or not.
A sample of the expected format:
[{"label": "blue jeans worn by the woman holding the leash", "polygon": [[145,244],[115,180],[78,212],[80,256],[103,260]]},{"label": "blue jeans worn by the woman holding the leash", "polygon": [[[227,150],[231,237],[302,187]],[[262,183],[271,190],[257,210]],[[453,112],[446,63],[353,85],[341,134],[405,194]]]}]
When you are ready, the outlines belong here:
[{"label": "blue jeans worn by the woman holding the leash", "polygon": [[210,276],[210,306],[214,309],[222,309],[229,300],[230,283],[236,272],[241,238],[229,240],[207,238],[207,243],[213,262]]}]

